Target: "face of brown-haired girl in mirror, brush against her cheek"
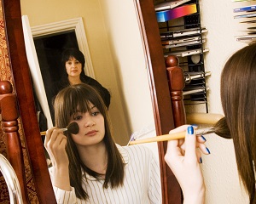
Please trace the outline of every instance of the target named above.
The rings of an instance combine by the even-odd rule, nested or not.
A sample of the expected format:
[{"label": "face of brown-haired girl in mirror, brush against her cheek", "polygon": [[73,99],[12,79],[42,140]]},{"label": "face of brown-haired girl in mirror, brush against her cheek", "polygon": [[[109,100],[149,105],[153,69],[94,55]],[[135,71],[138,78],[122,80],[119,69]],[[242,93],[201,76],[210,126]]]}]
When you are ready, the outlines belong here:
[{"label": "face of brown-haired girl in mirror, brush against her cheek", "polygon": [[72,134],[74,143],[79,146],[99,144],[105,136],[104,117],[96,106],[90,104],[90,111],[77,111],[70,122],[79,124],[79,133]]}]

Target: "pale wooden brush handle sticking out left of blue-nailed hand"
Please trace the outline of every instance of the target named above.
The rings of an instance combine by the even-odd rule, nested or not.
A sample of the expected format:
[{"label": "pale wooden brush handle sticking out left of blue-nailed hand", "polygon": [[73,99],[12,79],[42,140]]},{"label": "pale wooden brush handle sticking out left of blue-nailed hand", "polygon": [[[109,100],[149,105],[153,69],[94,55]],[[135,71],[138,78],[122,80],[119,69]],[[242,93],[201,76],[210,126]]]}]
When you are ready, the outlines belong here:
[{"label": "pale wooden brush handle sticking out left of blue-nailed hand", "polygon": [[162,141],[167,141],[172,139],[183,139],[185,138],[185,135],[186,135],[186,132],[163,134],[154,138],[137,139],[137,140],[131,141],[129,145],[143,144],[143,143],[150,143],[150,142],[162,142]]}]

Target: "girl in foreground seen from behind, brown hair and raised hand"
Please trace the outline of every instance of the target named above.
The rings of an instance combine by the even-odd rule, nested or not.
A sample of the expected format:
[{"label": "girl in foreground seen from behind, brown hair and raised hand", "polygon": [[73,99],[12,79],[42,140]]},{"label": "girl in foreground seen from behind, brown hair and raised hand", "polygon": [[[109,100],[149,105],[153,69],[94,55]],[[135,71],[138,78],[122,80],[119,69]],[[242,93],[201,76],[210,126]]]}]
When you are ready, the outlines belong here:
[{"label": "girl in foreground seen from behind, brown hair and raised hand", "polygon": [[[241,184],[247,190],[249,203],[256,203],[256,43],[230,56],[221,74],[220,96],[226,127],[233,139]],[[183,128],[183,127],[179,127]],[[178,129],[173,131],[179,131]],[[205,187],[195,146],[195,133],[184,140],[168,142],[166,162],[176,175],[184,203],[204,203]],[[178,171],[180,170],[180,171]],[[189,202],[190,199],[190,202]]]}]

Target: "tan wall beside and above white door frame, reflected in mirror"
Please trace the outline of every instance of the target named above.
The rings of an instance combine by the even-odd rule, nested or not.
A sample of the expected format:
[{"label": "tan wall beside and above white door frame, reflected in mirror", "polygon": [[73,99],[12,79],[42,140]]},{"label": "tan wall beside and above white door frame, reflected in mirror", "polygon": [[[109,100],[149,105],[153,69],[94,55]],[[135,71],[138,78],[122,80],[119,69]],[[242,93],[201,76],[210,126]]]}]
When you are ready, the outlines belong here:
[{"label": "tan wall beside and above white door frame, reflected in mirror", "polygon": [[[82,17],[90,49],[90,57],[96,80],[111,93],[109,114],[113,122],[115,140],[127,144],[131,135],[131,125],[126,119],[127,105],[123,102],[122,89],[116,77],[116,65],[108,42],[104,16],[98,1],[37,1],[21,0],[21,14],[27,15],[30,26],[40,26],[60,20]],[[129,118],[129,117],[128,117]]]}]

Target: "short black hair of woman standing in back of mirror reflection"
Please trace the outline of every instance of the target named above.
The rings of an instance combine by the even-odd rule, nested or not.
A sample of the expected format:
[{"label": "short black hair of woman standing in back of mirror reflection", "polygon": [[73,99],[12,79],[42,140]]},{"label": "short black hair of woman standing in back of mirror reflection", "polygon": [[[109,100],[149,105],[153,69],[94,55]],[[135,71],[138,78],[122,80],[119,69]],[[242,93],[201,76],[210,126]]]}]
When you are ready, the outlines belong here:
[{"label": "short black hair of woman standing in back of mirror reflection", "polygon": [[78,49],[78,48],[67,48],[65,49],[62,54],[61,54],[61,66],[65,69],[66,73],[66,62],[69,60],[71,57],[79,60],[79,62],[82,64],[82,72],[81,75],[84,74],[84,64],[85,64],[85,59],[84,59],[84,54]]}]

